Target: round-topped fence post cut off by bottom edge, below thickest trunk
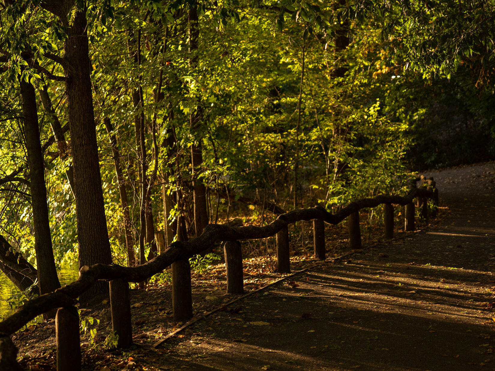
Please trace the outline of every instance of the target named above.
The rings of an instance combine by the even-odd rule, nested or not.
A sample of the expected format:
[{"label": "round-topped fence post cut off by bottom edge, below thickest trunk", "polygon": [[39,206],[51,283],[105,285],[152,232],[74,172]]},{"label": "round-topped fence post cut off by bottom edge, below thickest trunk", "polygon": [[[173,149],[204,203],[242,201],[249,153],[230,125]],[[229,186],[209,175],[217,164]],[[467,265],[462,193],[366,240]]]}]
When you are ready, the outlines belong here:
[{"label": "round-topped fence post cut off by bottom edge, below thickest trunk", "polygon": [[59,308],[55,317],[57,371],[81,370],[79,313],[76,307]]}]

